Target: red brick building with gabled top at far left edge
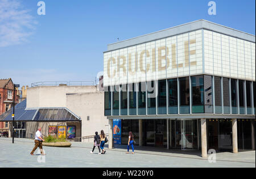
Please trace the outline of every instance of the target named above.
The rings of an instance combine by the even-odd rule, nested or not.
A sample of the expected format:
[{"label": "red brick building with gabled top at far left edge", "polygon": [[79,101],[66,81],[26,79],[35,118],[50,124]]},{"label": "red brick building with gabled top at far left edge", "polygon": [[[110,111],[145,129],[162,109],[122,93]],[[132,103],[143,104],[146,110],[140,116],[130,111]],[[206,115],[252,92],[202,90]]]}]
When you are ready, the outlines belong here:
[{"label": "red brick building with gabled top at far left edge", "polygon": [[[9,79],[0,79],[0,115],[13,107],[13,81]],[[15,90],[15,105],[19,103],[19,91]],[[9,131],[8,122],[0,122],[0,132]]]}]

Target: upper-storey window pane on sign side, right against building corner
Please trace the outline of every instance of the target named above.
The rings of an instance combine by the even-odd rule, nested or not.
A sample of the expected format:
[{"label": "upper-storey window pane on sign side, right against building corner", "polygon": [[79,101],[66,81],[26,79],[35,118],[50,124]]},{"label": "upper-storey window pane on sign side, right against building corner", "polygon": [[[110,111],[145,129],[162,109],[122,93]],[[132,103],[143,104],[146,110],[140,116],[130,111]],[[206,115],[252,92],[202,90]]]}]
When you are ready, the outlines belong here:
[{"label": "upper-storey window pane on sign side, right against building corner", "polygon": [[204,113],[204,77],[191,77],[192,113]]}]

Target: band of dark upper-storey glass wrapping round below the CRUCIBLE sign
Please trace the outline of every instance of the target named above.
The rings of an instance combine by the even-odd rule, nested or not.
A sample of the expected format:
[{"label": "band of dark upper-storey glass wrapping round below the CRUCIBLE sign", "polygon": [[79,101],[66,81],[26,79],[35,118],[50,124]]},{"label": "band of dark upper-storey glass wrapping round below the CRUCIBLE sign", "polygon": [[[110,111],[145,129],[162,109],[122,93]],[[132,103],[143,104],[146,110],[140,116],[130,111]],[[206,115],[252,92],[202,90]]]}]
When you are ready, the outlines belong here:
[{"label": "band of dark upper-storey glass wrapping round below the CRUCIBLE sign", "polygon": [[[251,81],[200,75],[122,85],[119,89],[105,91],[106,116],[111,115],[112,106],[112,115],[119,115],[119,99],[120,115],[255,113],[255,82]],[[40,113],[40,120],[58,115],[53,109]]]}]

